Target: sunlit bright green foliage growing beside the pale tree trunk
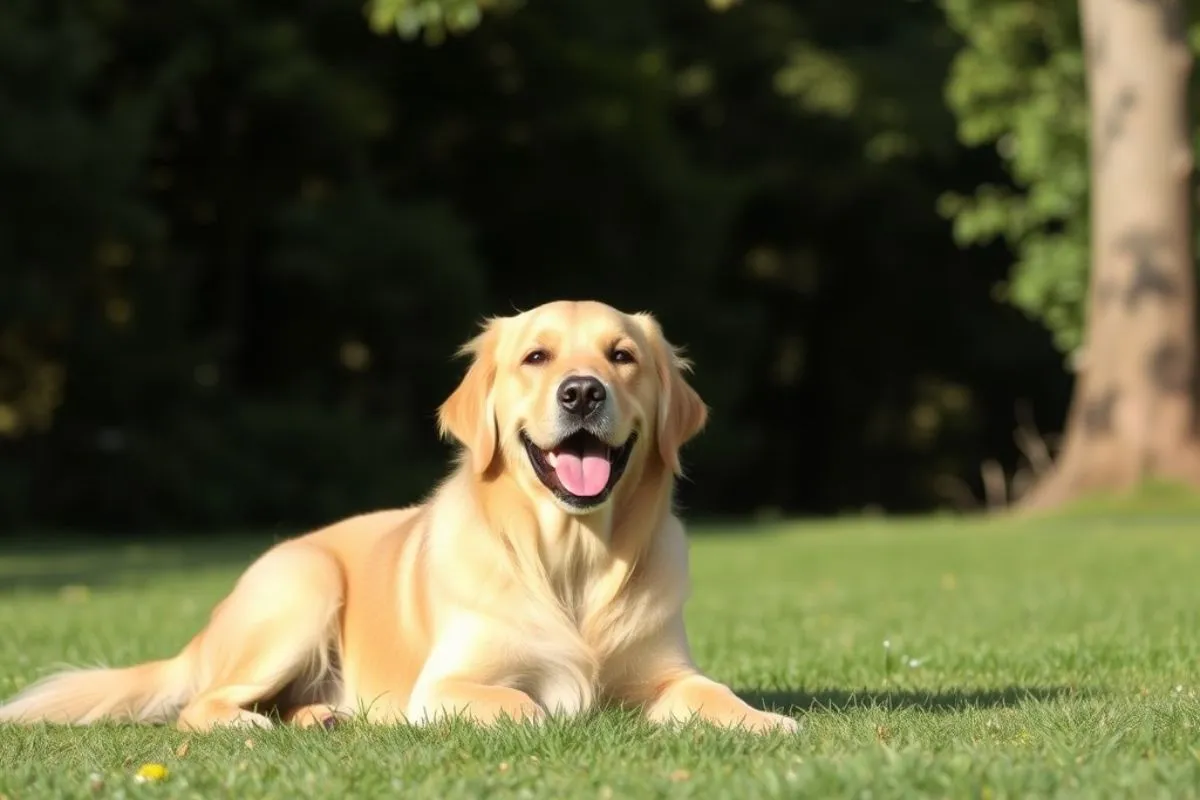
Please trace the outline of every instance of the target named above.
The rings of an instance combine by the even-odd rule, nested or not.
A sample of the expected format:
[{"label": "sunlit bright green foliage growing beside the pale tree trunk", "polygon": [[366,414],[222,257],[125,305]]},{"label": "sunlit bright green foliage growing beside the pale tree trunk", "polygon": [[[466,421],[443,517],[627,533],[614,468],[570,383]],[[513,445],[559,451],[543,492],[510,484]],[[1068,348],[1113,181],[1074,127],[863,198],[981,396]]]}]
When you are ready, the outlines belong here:
[{"label": "sunlit bright green foliage growing beside the pale tree trunk", "polygon": [[[948,192],[955,239],[1002,239],[1016,260],[1003,296],[1054,335],[1081,344],[1088,273],[1085,64],[1076,0],[942,0],[964,44],[946,98],[959,136],[992,146],[1007,180]],[[1189,4],[1190,19],[1200,4]],[[1193,25],[1193,50],[1200,29]]]}]

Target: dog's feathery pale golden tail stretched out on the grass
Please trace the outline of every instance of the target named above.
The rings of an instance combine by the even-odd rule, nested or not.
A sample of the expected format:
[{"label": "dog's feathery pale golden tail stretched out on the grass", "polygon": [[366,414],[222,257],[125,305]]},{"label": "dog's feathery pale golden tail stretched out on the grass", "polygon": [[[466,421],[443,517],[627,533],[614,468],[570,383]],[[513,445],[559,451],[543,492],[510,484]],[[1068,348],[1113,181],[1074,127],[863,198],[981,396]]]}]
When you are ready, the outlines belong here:
[{"label": "dog's feathery pale golden tail stretched out on the grass", "polygon": [[167,722],[191,694],[186,657],[120,669],[67,669],[43,678],[0,705],[0,723]]}]

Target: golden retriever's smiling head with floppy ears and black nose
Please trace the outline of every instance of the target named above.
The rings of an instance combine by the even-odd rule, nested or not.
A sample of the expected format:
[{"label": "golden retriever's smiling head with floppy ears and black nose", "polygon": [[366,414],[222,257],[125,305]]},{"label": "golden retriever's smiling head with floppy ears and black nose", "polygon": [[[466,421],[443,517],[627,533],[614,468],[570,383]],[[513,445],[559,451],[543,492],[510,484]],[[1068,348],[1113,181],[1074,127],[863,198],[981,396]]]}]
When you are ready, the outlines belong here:
[{"label": "golden retriever's smiling head with floppy ears and black nose", "polygon": [[438,413],[476,475],[503,469],[569,513],[589,513],[648,459],[679,471],[703,426],[686,362],[649,314],[552,302],[490,320],[470,368]]}]

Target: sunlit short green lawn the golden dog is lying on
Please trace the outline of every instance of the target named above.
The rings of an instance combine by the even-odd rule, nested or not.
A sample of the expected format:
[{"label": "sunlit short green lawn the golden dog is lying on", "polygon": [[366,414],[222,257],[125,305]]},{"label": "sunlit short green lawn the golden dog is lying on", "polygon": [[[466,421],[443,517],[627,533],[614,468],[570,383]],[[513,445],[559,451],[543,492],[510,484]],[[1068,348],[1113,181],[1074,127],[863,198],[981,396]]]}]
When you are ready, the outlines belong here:
[{"label": "sunlit short green lawn the golden dog is lying on", "polygon": [[[1194,511],[734,534],[692,540],[695,652],[803,717],[798,736],[616,714],[486,733],[7,728],[0,796],[1200,796]],[[265,541],[10,548],[0,694],[55,662],[173,652]],[[148,762],[169,776],[138,784]]]}]

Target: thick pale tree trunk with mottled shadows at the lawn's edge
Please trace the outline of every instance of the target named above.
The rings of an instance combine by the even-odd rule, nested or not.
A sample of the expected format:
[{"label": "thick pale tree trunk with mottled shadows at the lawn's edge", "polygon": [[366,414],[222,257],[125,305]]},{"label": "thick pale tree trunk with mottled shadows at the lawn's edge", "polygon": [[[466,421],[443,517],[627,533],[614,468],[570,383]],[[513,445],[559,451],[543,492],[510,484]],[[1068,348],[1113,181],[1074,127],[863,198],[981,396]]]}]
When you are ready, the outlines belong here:
[{"label": "thick pale tree trunk with mottled shadows at the lawn's edge", "polygon": [[1046,507],[1160,477],[1200,485],[1192,59],[1181,0],[1080,0],[1091,109],[1091,278]]}]

